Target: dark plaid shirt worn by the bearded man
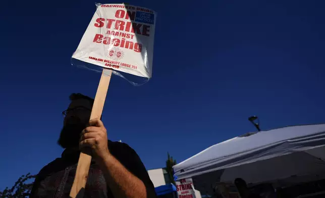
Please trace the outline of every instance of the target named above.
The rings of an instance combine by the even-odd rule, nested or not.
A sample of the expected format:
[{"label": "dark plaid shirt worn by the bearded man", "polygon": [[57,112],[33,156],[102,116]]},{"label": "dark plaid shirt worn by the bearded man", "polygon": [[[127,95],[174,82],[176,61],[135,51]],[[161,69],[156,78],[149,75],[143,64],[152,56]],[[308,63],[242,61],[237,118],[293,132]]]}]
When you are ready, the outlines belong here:
[{"label": "dark plaid shirt worn by the bearded man", "polygon": [[[147,198],[156,197],[153,184],[137,153],[126,143],[109,140],[111,154],[133,175],[137,176],[147,190]],[[70,189],[76,174],[79,152],[65,150],[61,158],[52,161],[37,174],[30,198],[69,198]],[[92,161],[84,192],[84,198],[113,198],[99,166]],[[117,198],[117,197],[115,197]]]}]

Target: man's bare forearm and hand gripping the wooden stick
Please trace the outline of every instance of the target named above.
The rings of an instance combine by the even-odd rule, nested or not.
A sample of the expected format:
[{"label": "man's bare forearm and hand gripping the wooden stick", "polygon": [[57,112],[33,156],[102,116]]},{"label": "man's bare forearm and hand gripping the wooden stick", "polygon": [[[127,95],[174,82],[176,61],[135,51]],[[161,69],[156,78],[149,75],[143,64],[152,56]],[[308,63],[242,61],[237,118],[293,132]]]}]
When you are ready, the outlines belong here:
[{"label": "man's bare forearm and hand gripping the wooden stick", "polygon": [[[110,154],[107,147],[107,132],[103,123],[99,119],[93,119],[89,121],[89,125],[82,131],[79,147],[80,149],[90,147],[93,157],[103,172],[106,183],[111,188],[114,197],[156,197],[153,188],[153,191],[149,192],[149,196],[147,196],[147,189],[143,181],[133,175],[119,160]],[[145,170],[144,172],[146,173]]]}]

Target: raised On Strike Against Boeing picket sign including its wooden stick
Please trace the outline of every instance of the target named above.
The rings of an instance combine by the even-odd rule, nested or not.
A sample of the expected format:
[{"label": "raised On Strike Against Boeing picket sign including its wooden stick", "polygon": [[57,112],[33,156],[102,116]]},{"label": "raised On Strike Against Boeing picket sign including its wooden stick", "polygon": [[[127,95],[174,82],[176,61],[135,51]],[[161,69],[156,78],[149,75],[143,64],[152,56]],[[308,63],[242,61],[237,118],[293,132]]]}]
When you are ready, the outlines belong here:
[{"label": "raised On Strike Against Boeing picket sign including its wooden stick", "polygon": [[[151,78],[155,16],[154,11],[142,7],[97,5],[72,55],[73,59],[103,68],[90,120],[101,117],[112,70]],[[82,151],[70,197],[83,197],[90,163],[90,150]]]}]

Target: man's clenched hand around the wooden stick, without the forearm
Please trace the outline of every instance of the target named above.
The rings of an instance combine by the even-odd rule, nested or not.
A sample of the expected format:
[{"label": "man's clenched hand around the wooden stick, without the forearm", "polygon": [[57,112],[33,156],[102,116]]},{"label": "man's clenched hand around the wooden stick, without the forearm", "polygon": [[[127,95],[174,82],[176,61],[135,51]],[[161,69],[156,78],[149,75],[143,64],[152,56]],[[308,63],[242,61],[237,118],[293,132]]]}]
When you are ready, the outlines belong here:
[{"label": "man's clenched hand around the wooden stick, without the forearm", "polygon": [[81,133],[79,148],[81,150],[84,147],[90,147],[93,157],[98,160],[103,160],[110,155],[107,146],[107,131],[98,118],[90,120],[89,126]]}]

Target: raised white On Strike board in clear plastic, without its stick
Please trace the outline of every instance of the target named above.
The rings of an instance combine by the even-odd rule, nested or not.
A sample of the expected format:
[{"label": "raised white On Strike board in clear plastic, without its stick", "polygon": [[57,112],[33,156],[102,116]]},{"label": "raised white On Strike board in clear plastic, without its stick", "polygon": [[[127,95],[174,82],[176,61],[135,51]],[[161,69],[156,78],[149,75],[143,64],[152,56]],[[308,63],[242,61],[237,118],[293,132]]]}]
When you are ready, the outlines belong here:
[{"label": "raised white On Strike board in clear plastic, without its stick", "polygon": [[[95,71],[113,69],[123,78],[119,72],[151,78],[156,13],[125,4],[96,6],[96,12],[72,56],[72,60],[78,61],[73,65]],[[94,69],[89,65],[100,67]]]}]

